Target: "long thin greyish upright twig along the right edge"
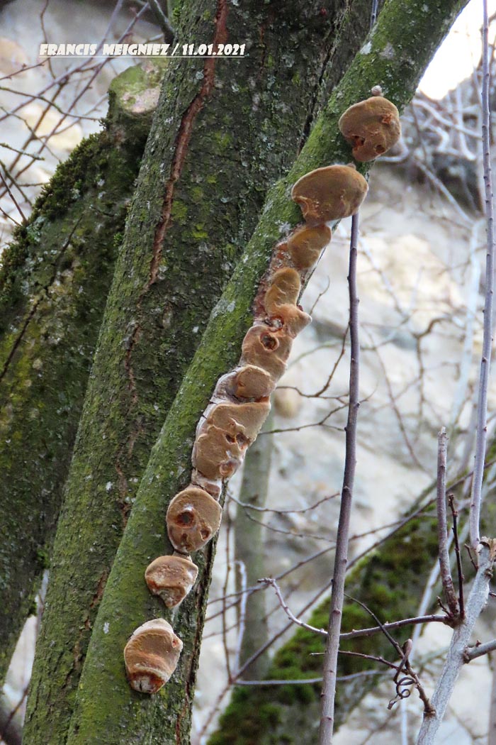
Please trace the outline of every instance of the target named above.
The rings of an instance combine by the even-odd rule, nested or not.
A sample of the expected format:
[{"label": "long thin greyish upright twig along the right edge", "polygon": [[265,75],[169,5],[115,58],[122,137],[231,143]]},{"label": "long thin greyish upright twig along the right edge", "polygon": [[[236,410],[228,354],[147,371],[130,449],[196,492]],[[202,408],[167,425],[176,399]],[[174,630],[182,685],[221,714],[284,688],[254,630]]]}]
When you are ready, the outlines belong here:
[{"label": "long thin greyish upright twig along the right edge", "polygon": [[484,187],[486,191],[487,253],[486,253],[486,301],[484,303],[483,351],[480,361],[479,392],[477,400],[477,437],[475,441],[474,478],[470,501],[470,542],[477,548],[480,541],[480,502],[483,482],[484,456],[487,439],[487,390],[492,352],[492,312],[495,273],[495,218],[493,209],[490,114],[489,114],[489,59],[488,59],[487,0],[483,1],[483,86],[482,86],[482,139]]}]

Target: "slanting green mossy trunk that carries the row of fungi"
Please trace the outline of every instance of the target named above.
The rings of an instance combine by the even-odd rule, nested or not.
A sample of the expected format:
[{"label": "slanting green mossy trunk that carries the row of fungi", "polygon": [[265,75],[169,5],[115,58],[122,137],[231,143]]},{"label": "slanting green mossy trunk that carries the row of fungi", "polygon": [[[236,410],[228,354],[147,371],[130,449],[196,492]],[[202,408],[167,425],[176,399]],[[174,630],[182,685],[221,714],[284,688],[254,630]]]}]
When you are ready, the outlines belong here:
[{"label": "slanting green mossy trunk that carries the row of fungi", "polygon": [[[173,679],[160,694],[144,697],[129,688],[122,650],[135,627],[164,613],[147,592],[143,572],[150,559],[164,553],[164,547],[166,552],[171,551],[164,536],[164,512],[170,498],[189,481],[196,422],[219,373],[239,358],[242,336],[251,323],[251,302],[274,243],[281,232],[300,219],[289,199],[289,187],[312,168],[350,159],[350,150],[338,135],[338,118],[348,105],[365,97],[373,85],[381,83],[386,95],[400,108],[410,101],[420,75],[462,5],[461,1],[432,0],[420,10],[413,0],[387,2],[366,54],[355,57],[294,167],[269,192],[254,237],[210,316],[141,479],[93,624],[71,719],[69,745],[96,745],[102,732],[109,745],[120,743],[123,733],[129,745],[189,741],[190,707],[213,544],[196,554],[199,582],[174,614],[173,626],[184,647]],[[100,370],[97,373],[101,375]],[[45,730],[44,742],[49,737]],[[27,742],[34,742],[32,735]]]}]

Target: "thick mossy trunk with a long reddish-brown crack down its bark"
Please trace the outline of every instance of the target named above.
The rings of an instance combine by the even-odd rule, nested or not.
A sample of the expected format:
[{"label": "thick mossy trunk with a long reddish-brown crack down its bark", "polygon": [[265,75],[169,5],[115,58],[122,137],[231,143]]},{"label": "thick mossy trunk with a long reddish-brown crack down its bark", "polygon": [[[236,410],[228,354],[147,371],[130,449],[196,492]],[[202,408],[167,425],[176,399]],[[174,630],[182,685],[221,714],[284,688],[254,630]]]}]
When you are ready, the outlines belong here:
[{"label": "thick mossy trunk with a long reddish-brown crack down its bark", "polygon": [[65,489],[28,744],[65,741],[91,627],[149,450],[265,189],[292,162],[346,9],[317,0],[184,5],[178,37],[242,40],[248,57],[170,61]]}]

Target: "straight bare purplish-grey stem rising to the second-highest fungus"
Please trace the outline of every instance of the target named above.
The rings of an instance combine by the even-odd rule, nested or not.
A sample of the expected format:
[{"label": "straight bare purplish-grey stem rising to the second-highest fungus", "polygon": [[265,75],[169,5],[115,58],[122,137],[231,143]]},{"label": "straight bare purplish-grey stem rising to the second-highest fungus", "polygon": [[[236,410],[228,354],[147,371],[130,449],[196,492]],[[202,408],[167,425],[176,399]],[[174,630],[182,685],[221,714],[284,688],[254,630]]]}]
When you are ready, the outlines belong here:
[{"label": "straight bare purplish-grey stem rising to the second-highest fungus", "polygon": [[334,573],[332,577],[331,612],[329,615],[326,654],[323,664],[322,713],[319,731],[319,745],[332,743],[334,729],[334,706],[336,676],[338,667],[339,634],[341,633],[341,615],[344,602],[344,578],[348,563],[348,535],[350,532],[350,515],[355,481],[356,464],[356,425],[358,419],[359,391],[359,355],[358,340],[358,295],[356,288],[356,264],[358,258],[358,214],[352,217],[350,264],[348,271],[348,288],[350,293],[350,405],[346,426],[346,457],[344,464],[343,491],[338,521],[338,537]]}]

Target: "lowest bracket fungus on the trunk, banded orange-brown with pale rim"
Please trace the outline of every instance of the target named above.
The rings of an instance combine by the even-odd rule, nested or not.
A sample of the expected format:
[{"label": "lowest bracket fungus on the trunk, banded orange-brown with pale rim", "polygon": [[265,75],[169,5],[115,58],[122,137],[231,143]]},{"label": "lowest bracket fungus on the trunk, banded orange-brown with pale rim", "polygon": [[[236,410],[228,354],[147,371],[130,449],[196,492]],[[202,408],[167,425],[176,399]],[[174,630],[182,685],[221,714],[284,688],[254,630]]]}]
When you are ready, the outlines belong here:
[{"label": "lowest bracket fungus on the trunk, banded orange-brown with pale rim", "polygon": [[124,662],[131,688],[155,694],[175,671],[182,641],[163,618],[146,621],[132,633],[124,648]]}]

